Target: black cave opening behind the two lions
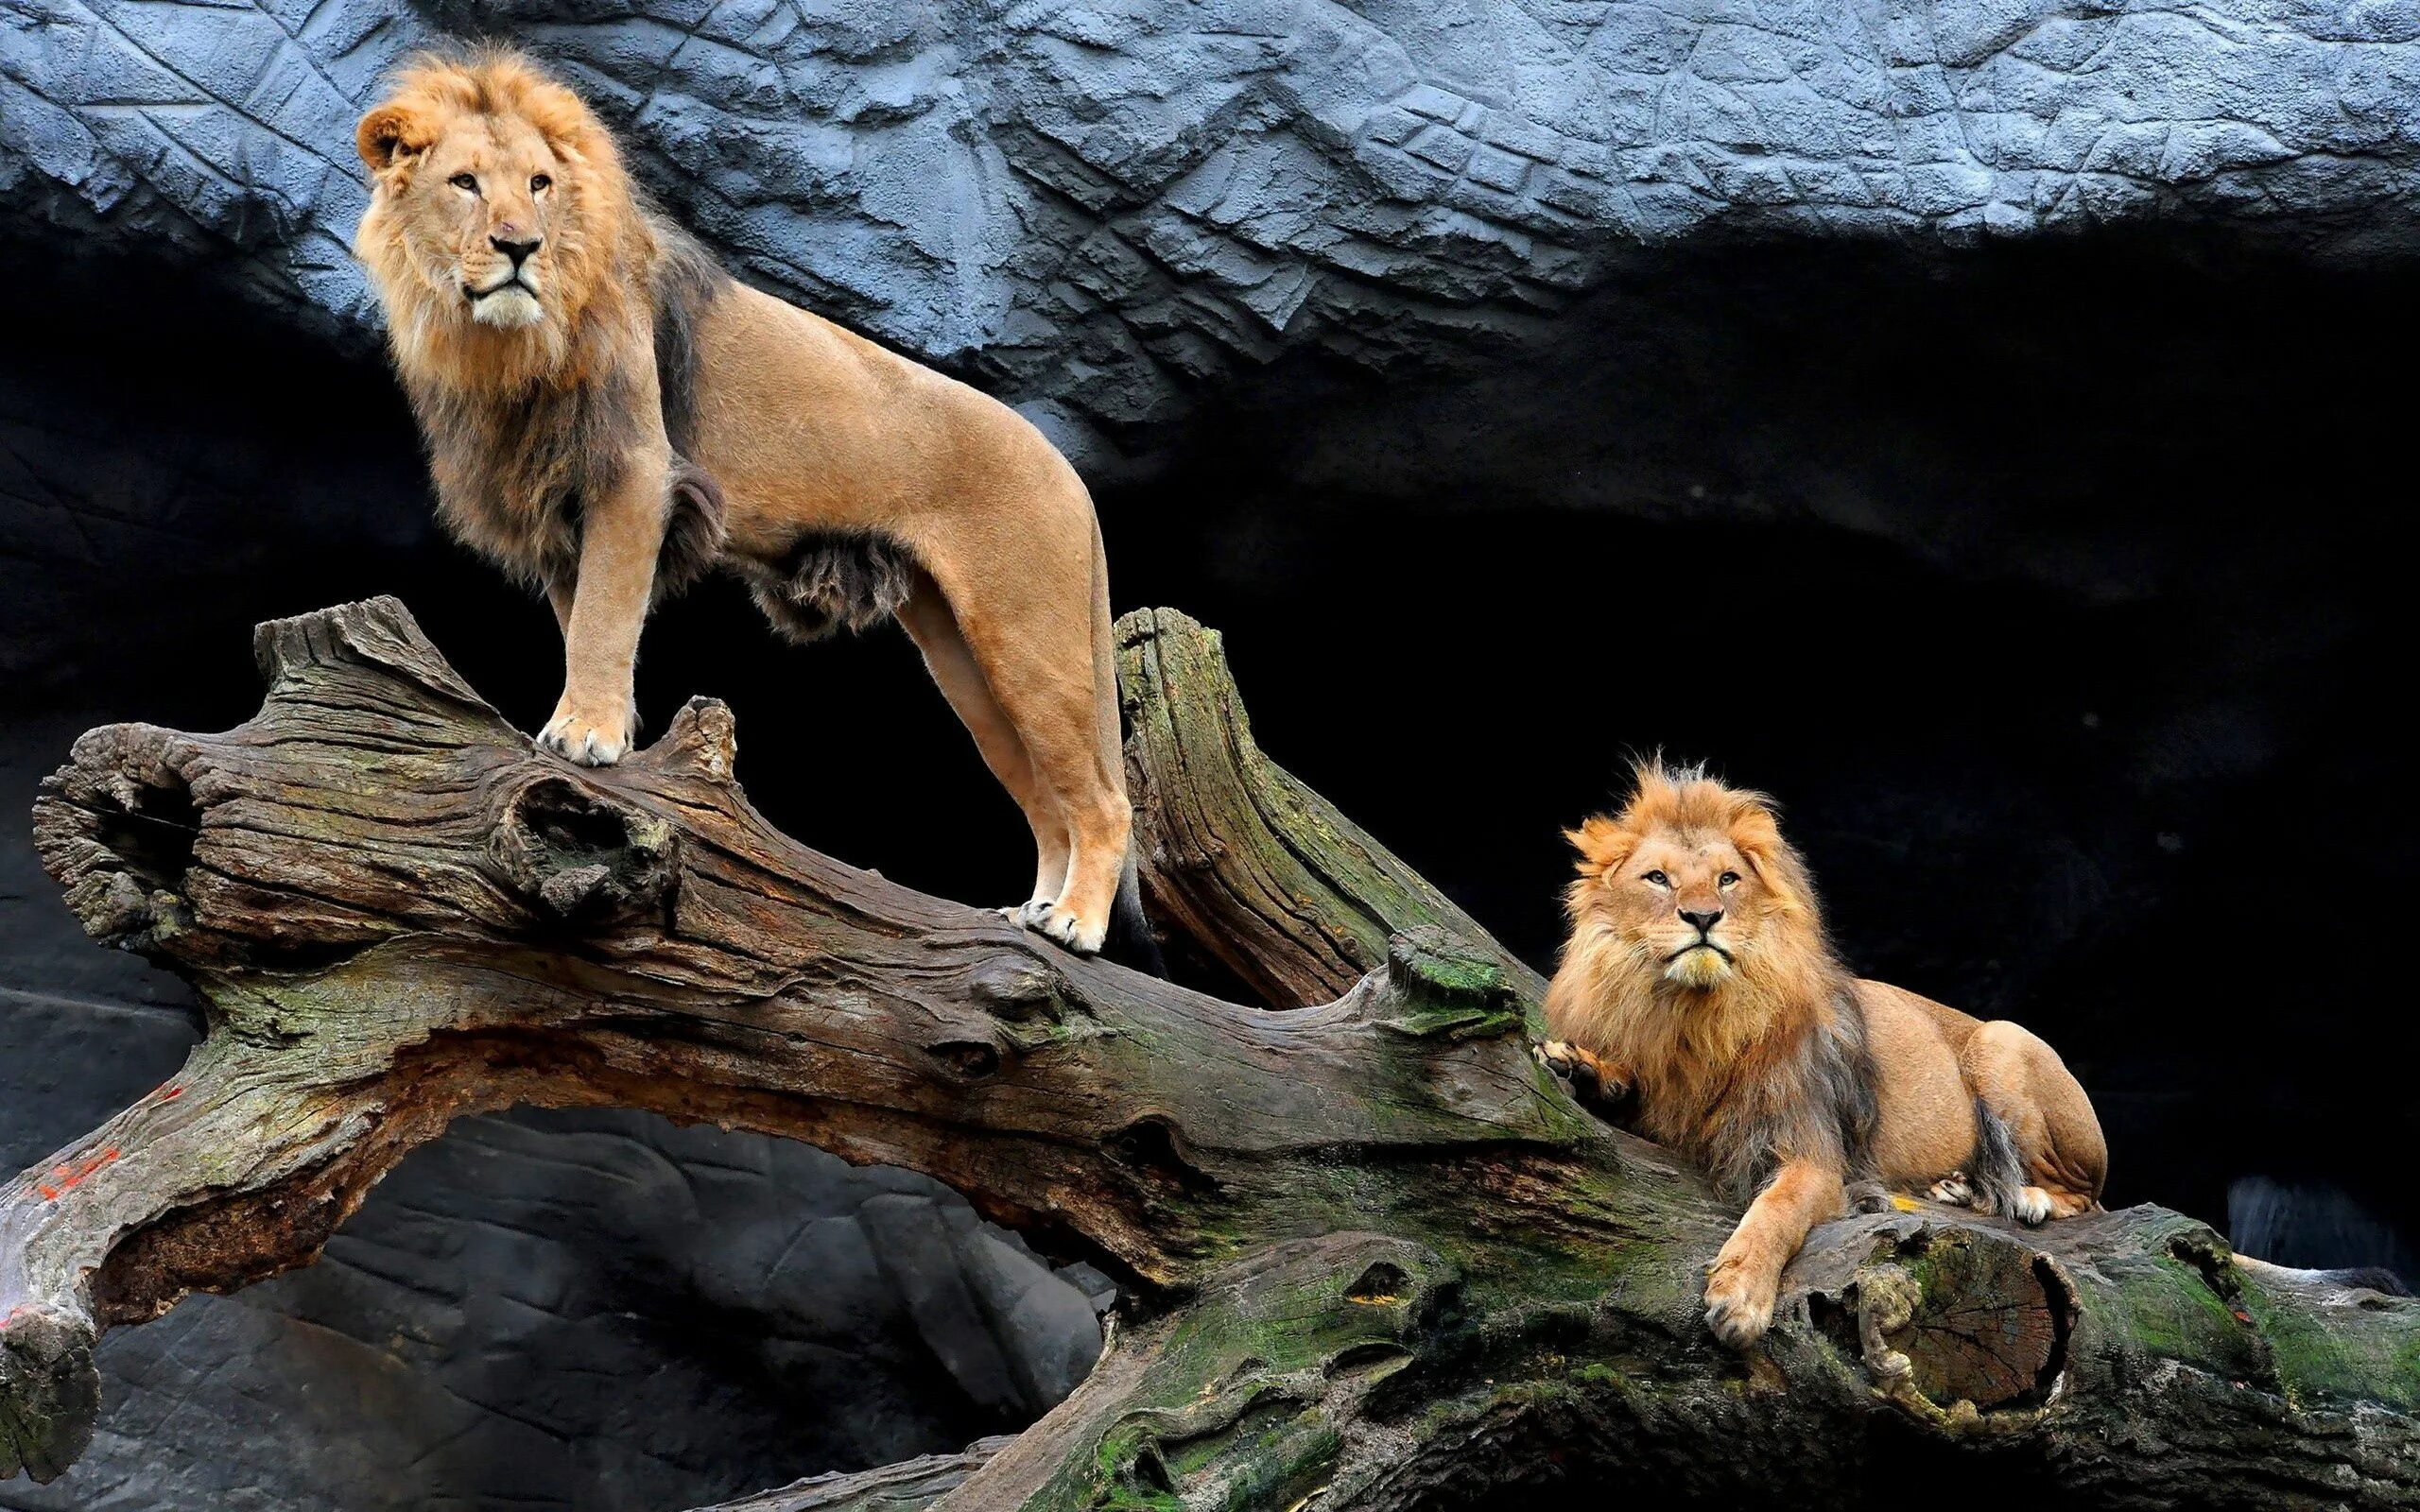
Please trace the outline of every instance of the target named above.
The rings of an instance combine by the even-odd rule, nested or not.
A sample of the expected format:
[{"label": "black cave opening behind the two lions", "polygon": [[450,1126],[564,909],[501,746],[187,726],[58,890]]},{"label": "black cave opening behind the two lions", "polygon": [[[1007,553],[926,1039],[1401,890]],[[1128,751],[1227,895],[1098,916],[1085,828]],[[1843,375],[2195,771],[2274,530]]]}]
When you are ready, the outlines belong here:
[{"label": "black cave opening behind the two lions", "polygon": [[[436,535],[375,356],[189,276],[7,269],[15,714],[223,728],[257,619],[394,593],[544,719],[552,617]],[[1113,595],[1225,631],[1268,755],[1539,965],[1558,830],[1634,752],[1774,791],[1861,973],[2062,1050],[2113,1202],[2224,1227],[2238,1181],[2326,1190],[2376,1224],[2294,1258],[2379,1263],[2420,1236],[2420,1108],[2374,1050],[2401,1004],[2364,982],[2420,856],[2384,733],[2401,285],[2115,237],[1643,261],[1467,370],[1307,356],[1205,399],[1154,481],[1101,489]],[[728,699],[806,844],[1024,893],[1024,825],[903,636],[799,651],[714,581],[639,694],[658,731]],[[0,917],[7,963],[63,958],[41,888]]]}]

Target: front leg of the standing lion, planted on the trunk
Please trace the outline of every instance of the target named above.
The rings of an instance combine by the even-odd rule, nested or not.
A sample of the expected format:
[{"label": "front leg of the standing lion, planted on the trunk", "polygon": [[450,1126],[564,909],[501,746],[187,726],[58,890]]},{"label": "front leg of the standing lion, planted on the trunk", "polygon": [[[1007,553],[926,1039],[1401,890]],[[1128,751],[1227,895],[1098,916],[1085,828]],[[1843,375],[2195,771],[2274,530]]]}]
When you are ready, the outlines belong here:
[{"label": "front leg of the standing lion, planted on the trunk", "polygon": [[[634,455],[581,515],[581,571],[564,617],[564,697],[537,743],[583,767],[620,762],[639,731],[639,627],[656,593],[668,479],[668,452]],[[561,593],[549,598],[561,614]]]}]

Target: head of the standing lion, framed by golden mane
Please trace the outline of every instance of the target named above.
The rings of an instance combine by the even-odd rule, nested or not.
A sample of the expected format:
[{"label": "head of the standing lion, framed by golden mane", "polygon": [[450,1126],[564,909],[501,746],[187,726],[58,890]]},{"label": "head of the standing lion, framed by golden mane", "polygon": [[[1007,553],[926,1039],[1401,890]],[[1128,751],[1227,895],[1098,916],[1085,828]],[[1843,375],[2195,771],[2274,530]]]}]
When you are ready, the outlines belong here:
[{"label": "head of the standing lion, framed by golden mane", "polygon": [[588,106],[515,56],[424,60],[356,145],[373,181],[356,252],[407,358],[482,327],[559,356],[634,223]]}]

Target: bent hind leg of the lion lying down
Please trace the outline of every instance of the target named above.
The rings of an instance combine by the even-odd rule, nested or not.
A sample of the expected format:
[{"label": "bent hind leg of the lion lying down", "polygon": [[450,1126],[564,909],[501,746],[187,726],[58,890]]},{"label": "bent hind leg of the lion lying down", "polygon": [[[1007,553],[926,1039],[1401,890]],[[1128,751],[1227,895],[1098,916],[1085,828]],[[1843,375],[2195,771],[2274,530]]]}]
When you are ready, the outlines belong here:
[{"label": "bent hind leg of the lion lying down", "polygon": [[1958,1069],[1975,1089],[1977,1125],[1984,1127],[1977,1147],[2006,1139],[2004,1156],[1992,1152],[1994,1212],[2040,1224],[2101,1205],[2108,1142],[2091,1098],[2057,1050],[2033,1031],[1999,1018],[1967,1038]]}]

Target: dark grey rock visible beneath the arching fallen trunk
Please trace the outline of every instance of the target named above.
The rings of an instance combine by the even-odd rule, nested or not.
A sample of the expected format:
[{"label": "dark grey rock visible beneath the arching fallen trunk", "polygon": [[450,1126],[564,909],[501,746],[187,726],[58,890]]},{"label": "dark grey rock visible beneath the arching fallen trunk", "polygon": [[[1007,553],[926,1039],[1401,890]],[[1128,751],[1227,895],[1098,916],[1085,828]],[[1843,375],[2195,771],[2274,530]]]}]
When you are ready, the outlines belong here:
[{"label": "dark grey rock visible beneath the arching fallen trunk", "polygon": [[[876,1207],[937,1243],[883,1251]],[[898,1260],[968,1306],[924,1316]],[[1041,1340],[1036,1294],[1065,1299]],[[92,1454],[0,1507],[666,1512],[1019,1427],[1096,1350],[1084,1297],[929,1181],[639,1115],[474,1118],[317,1265],[109,1340]]]}]

